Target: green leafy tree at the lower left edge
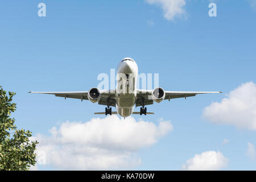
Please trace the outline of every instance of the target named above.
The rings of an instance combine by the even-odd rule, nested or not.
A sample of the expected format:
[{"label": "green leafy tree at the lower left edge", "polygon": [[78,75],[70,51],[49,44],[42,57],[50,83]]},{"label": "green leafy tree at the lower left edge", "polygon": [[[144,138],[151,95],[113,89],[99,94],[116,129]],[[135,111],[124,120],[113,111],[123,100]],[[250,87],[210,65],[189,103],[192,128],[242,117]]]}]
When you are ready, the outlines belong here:
[{"label": "green leafy tree at the lower left edge", "polygon": [[10,118],[16,110],[13,103],[14,92],[6,91],[0,86],[0,170],[28,170],[36,163],[36,144],[31,141],[31,132],[18,130],[14,125],[15,119]]}]

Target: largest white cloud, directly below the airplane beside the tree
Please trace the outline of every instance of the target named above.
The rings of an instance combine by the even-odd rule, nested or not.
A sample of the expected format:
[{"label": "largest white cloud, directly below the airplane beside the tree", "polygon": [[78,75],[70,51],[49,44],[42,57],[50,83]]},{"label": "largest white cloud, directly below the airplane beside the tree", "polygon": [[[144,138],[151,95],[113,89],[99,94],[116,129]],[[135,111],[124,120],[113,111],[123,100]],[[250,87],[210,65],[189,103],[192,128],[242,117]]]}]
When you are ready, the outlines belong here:
[{"label": "largest white cloud, directly below the airplane beside the tree", "polygon": [[136,155],[142,147],[158,142],[172,130],[170,121],[158,125],[147,121],[124,119],[116,115],[88,122],[65,122],[51,136],[40,134],[36,152],[46,154],[46,164],[56,169],[128,169],[141,164]]}]

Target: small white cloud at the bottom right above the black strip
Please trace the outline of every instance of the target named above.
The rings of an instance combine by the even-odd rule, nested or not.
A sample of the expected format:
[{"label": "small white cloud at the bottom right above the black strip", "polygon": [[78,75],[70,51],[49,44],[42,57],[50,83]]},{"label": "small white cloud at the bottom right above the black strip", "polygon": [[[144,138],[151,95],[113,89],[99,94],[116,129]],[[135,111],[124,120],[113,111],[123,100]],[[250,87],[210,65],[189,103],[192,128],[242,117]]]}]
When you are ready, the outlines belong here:
[{"label": "small white cloud at the bottom right above the black strip", "polygon": [[220,151],[206,151],[201,154],[196,154],[193,158],[187,160],[182,168],[184,170],[220,170],[226,167],[228,159],[221,154]]}]

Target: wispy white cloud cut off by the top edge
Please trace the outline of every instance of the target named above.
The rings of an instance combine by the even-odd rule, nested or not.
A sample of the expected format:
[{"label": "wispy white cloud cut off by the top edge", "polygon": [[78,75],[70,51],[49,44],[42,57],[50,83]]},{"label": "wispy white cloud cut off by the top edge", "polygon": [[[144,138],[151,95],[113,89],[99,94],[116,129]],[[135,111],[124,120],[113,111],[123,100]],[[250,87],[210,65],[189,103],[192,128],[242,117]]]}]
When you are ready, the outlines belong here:
[{"label": "wispy white cloud cut off by the top edge", "polygon": [[159,5],[164,11],[164,18],[167,20],[174,20],[175,17],[185,15],[185,0],[146,0],[146,2],[150,5]]}]

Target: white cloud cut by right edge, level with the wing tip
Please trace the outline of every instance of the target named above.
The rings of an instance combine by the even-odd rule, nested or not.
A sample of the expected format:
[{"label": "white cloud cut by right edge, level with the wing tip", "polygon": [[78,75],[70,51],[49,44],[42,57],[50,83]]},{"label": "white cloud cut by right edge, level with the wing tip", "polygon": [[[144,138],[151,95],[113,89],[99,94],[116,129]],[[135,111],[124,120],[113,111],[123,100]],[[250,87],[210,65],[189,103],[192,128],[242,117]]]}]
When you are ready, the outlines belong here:
[{"label": "white cloud cut by right edge, level with the wing tip", "polygon": [[256,130],[256,85],[246,82],[238,86],[228,98],[205,107],[203,116],[213,123]]}]

